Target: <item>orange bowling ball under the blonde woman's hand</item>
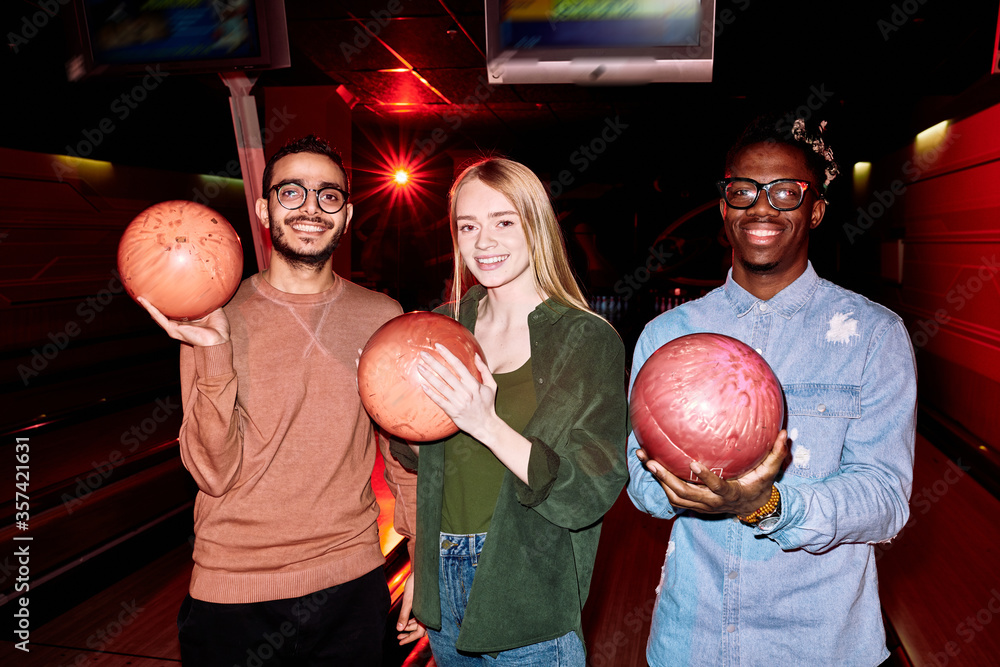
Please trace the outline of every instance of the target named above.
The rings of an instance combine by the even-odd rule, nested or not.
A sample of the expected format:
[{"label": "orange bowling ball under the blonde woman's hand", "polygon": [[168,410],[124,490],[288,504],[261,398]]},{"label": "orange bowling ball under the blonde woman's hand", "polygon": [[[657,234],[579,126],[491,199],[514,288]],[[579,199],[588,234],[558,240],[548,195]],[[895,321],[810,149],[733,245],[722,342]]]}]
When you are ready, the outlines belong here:
[{"label": "orange bowling ball under the blonde woman's hand", "polygon": [[368,339],[358,362],[365,409],[379,426],[404,440],[429,442],[458,432],[451,417],[420,388],[420,352],[448,365],[435,343],[448,348],[482,382],[475,357],[486,357],[479,342],[461,324],[437,313],[417,311],[389,320]]}]

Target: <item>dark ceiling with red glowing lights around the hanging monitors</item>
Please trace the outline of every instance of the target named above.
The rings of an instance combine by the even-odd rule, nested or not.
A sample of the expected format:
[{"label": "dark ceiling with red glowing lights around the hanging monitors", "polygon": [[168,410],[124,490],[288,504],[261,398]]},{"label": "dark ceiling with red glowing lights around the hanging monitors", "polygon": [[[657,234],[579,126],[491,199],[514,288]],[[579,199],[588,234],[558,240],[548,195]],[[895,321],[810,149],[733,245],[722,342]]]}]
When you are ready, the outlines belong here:
[{"label": "dark ceiling with red glowing lights around the hanging monitors", "polygon": [[[65,153],[133,85],[66,81],[67,1],[3,3],[8,42],[26,34],[40,4],[57,8],[4,54],[4,146]],[[389,5],[401,11],[346,57],[361,24]],[[848,161],[904,145],[960,113],[963,100],[997,97],[998,77],[989,76],[997,0],[717,0],[711,83],[627,87],[484,86],[484,11],[475,0],[287,0],[286,8],[292,67],[260,74],[258,86],[343,85],[357,99],[356,129],[372,141],[406,150],[447,128],[442,148],[502,152],[549,174],[607,123],[625,129],[592,174],[701,178],[718,171],[724,147],[765,108],[829,120]],[[235,155],[227,97],[214,75],[170,77],[115,121],[91,157],[215,173]]]}]

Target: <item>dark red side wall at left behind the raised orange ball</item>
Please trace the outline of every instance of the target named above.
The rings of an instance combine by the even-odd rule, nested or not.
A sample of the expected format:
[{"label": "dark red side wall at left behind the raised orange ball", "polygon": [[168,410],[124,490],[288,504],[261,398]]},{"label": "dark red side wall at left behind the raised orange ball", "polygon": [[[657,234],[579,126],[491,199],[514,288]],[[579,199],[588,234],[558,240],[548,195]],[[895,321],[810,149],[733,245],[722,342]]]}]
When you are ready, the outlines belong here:
[{"label": "dark red side wall at left behind the raised orange ball", "polygon": [[[87,345],[155,328],[124,296],[116,269],[122,232],[146,207],[168,199],[202,201],[234,225],[244,248],[253,247],[237,179],[3,148],[0,165],[0,355],[5,388],[15,397],[70,367],[96,364],[82,352]],[[220,172],[230,173],[225,165]],[[249,275],[256,271],[254,256],[244,254]],[[42,358],[33,359],[39,354],[32,350]],[[24,364],[25,356],[34,363]],[[5,412],[2,421],[32,416]]]}]

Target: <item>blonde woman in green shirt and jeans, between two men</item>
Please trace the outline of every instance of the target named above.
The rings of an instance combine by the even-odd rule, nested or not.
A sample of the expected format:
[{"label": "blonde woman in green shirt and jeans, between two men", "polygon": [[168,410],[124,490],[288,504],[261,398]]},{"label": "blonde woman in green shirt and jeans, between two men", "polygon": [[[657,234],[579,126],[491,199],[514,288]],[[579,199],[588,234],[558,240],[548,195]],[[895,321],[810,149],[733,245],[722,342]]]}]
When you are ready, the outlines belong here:
[{"label": "blonde woman in green shirt and jeans, between two men", "polygon": [[455,299],[439,311],[486,358],[479,382],[441,346],[447,365],[424,355],[424,390],[461,430],[396,448],[418,473],[413,615],[439,667],[582,667],[601,519],[628,476],[624,347],[524,165],[469,167],[450,208]]}]

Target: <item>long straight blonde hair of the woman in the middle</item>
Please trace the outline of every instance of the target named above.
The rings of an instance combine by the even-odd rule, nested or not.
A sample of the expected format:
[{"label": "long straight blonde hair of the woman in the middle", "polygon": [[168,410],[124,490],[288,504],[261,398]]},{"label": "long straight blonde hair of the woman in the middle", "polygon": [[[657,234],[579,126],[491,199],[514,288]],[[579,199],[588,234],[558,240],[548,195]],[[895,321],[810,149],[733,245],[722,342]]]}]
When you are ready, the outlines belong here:
[{"label": "long straight blonde hair of the woman in the middle", "polygon": [[566,242],[556,220],[545,186],[534,172],[519,162],[491,157],[467,167],[451,186],[448,208],[451,218],[451,245],[454,262],[452,280],[452,307],[458,317],[458,303],[465,290],[475,283],[472,272],[465,265],[458,250],[458,224],[455,202],[459,189],[468,181],[478,180],[483,185],[502,194],[514,205],[524,234],[531,248],[535,289],[565,306],[593,312],[580,290],[580,285],[570,269]]}]

